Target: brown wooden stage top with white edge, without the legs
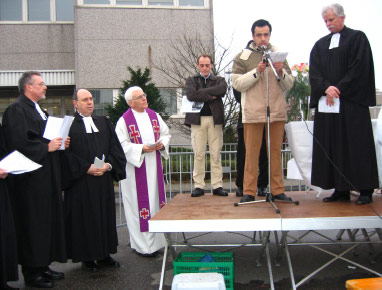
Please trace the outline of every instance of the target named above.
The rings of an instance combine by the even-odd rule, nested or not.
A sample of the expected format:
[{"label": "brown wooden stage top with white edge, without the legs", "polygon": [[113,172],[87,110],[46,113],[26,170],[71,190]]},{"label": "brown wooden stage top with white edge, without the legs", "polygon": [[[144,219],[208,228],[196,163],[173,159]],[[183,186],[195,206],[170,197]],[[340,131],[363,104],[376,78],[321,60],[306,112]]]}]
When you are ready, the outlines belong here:
[{"label": "brown wooden stage top with white edge, without the legs", "polygon": [[[176,195],[149,221],[150,232],[204,231],[291,231],[382,228],[382,195],[374,194],[373,203],[356,205],[350,202],[323,203],[316,192],[288,192],[299,205],[276,203],[276,214],[267,202],[234,206],[240,201],[234,193],[228,197],[206,194],[191,197]],[[259,199],[259,198],[257,198]]]}]

